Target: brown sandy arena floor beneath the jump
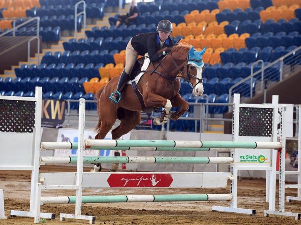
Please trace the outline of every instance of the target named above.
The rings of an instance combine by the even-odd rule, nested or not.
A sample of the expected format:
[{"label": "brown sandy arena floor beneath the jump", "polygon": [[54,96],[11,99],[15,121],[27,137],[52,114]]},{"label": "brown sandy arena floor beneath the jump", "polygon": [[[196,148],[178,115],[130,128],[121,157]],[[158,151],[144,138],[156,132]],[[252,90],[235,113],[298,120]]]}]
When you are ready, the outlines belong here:
[{"label": "brown sandy arena floor beneath the jump", "polygon": [[[75,172],[75,167],[42,166],[41,172]],[[89,171],[89,168],[85,168]],[[4,190],[5,215],[8,220],[2,224],[33,224],[33,218],[9,217],[10,210],[29,210],[30,172],[0,171],[0,189]],[[228,182],[228,186],[229,186]],[[277,188],[278,189],[278,188]],[[52,192],[53,193],[53,192]],[[75,195],[75,191],[44,191],[44,196]],[[111,194],[176,194],[176,193],[229,193],[227,189],[178,188],[178,189],[90,189],[84,195]],[[296,189],[288,189],[287,194],[296,196]],[[276,207],[278,200],[276,199]],[[256,215],[219,213],[211,211],[212,205],[228,206],[229,202],[137,202],[137,203],[101,203],[83,204],[82,214],[95,215],[95,224],[301,224],[293,217],[263,217],[263,210],[268,209],[265,203],[265,180],[244,179],[238,183],[238,206],[256,209]],[[61,222],[59,213],[74,213],[74,204],[43,205],[42,212],[55,213],[56,220],[47,220],[46,224],[88,224],[88,221],[67,220]],[[286,202],[286,211],[301,212],[301,202]]]}]

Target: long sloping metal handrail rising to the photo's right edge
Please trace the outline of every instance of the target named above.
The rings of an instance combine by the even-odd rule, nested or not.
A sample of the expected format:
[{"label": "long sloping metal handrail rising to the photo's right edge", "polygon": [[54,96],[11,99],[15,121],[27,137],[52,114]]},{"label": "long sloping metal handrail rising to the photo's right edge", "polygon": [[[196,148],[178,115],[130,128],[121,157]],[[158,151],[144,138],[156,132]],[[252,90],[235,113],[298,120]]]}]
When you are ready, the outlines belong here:
[{"label": "long sloping metal handrail rising to the photo's right edge", "polygon": [[[274,64],[280,62],[280,81],[282,81],[283,78],[283,60],[284,58],[286,58],[287,56],[291,55],[291,54],[295,54],[296,51],[299,51],[301,49],[301,46],[293,49],[292,51],[288,52],[286,55],[281,56],[280,58],[276,59],[275,61],[269,63],[268,65],[264,66],[263,68],[261,68],[260,70],[257,70],[255,73],[251,74],[250,76],[247,76],[246,78],[242,79],[241,81],[237,82],[236,84],[234,84],[233,86],[231,86],[231,88],[229,89],[229,102],[232,102],[232,90],[237,87],[238,85],[242,84],[243,82],[247,81],[248,79],[251,79],[251,77],[259,74],[259,73],[264,73],[264,70],[273,66]],[[263,79],[261,80],[261,86],[263,86]],[[252,83],[250,83],[250,90],[252,93]],[[229,109],[230,110],[230,109]]]}]

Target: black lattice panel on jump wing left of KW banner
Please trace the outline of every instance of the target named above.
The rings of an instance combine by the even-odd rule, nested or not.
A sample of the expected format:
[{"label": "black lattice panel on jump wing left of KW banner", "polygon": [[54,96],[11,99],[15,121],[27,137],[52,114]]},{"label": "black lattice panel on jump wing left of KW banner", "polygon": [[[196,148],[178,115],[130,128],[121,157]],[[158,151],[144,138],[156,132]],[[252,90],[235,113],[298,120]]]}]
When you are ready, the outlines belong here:
[{"label": "black lattice panel on jump wing left of KW banner", "polygon": [[0,100],[0,131],[32,133],[35,107],[34,101]]}]

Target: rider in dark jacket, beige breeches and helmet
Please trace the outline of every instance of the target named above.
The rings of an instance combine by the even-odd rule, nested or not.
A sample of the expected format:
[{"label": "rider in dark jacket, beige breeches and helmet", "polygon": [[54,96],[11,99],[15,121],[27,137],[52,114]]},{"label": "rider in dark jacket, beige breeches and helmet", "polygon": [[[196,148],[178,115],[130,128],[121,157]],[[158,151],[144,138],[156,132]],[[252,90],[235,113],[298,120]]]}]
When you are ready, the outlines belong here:
[{"label": "rider in dark jacket, beige breeches and helmet", "polygon": [[[155,62],[159,61],[164,55],[170,52],[170,47],[174,45],[172,39],[169,37],[171,32],[172,23],[167,19],[163,19],[157,26],[157,32],[142,33],[131,38],[126,46],[126,65],[119,78],[117,90],[113,91],[109,97],[113,103],[116,104],[120,101],[122,89],[129,80],[129,74],[132,72],[132,68],[138,55],[144,55],[148,52],[150,61]],[[160,54],[156,54],[158,50],[164,47],[168,47],[168,49]]]}]

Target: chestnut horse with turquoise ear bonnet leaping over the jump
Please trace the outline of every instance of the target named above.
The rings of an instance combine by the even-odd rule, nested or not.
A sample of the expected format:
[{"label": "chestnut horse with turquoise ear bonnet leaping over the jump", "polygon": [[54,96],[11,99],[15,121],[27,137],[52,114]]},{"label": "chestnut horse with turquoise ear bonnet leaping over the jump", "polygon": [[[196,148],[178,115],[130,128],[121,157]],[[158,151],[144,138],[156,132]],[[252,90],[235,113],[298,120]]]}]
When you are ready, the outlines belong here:
[{"label": "chestnut horse with turquoise ear bonnet leaping over the jump", "polygon": [[[195,96],[201,96],[204,91],[202,56],[205,51],[206,47],[199,52],[190,44],[178,43],[160,62],[150,63],[137,84],[141,101],[129,84],[124,87],[118,104],[110,101],[109,96],[116,90],[119,77],[114,77],[101,87],[95,95],[98,113],[95,139],[104,139],[116,119],[120,120],[120,125],[112,130],[112,139],[119,139],[141,122],[141,111],[163,108],[161,116],[154,119],[154,125],[163,125],[168,118],[174,121],[179,119],[189,108],[188,102],[178,93],[181,85],[179,77],[191,85]],[[181,108],[171,112],[172,107]],[[120,153],[115,151],[114,155],[120,156]],[[118,168],[119,164],[112,164],[110,170],[115,172]],[[95,164],[94,170],[101,171],[101,165]]]}]

